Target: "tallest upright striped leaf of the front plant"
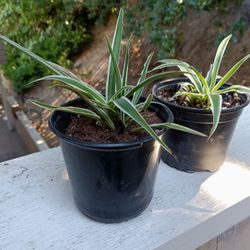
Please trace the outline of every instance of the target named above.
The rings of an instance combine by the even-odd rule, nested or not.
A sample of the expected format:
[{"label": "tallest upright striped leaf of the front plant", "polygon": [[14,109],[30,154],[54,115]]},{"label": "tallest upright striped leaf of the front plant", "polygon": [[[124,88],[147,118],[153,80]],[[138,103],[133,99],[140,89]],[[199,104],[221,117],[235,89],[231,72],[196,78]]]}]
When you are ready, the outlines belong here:
[{"label": "tallest upright striped leaf of the front plant", "polygon": [[[113,41],[112,41],[112,46],[111,46],[112,51],[114,52],[114,57],[117,62],[119,62],[119,58],[120,58],[123,18],[124,18],[124,10],[123,8],[121,8],[119,11],[115,33],[113,36]],[[110,55],[107,81],[106,81],[106,100],[107,101],[109,101],[110,98],[115,94],[115,91],[116,91],[116,83],[115,83],[114,65],[113,65],[112,56]]]}]

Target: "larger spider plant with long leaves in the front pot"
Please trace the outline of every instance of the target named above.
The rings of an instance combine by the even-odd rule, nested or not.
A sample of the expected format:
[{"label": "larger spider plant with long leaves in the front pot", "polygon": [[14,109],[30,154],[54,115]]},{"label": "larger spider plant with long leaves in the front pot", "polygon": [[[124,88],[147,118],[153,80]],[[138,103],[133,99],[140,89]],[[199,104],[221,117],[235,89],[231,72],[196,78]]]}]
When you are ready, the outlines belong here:
[{"label": "larger spider plant with long leaves in the front pot", "polygon": [[97,122],[97,124],[101,123],[110,130],[117,131],[117,133],[119,133],[120,131],[133,132],[134,130],[131,130],[130,125],[132,122],[136,122],[139,125],[139,129],[145,130],[156,141],[158,141],[166,151],[172,153],[171,149],[157,136],[155,132],[156,128],[171,128],[190,132],[200,136],[205,135],[174,123],[163,122],[160,124],[149,125],[145,121],[145,119],[141,115],[141,112],[147,110],[150,106],[152,102],[152,95],[149,95],[144,102],[140,102],[140,97],[142,96],[144,86],[160,78],[180,75],[180,72],[171,71],[148,76],[148,67],[152,59],[152,54],[150,54],[147,57],[147,60],[143,66],[137,84],[135,86],[129,85],[128,65],[131,39],[129,39],[126,44],[124,63],[121,67],[122,70],[120,70],[119,67],[123,31],[123,17],[124,10],[121,9],[119,11],[112,44],[110,44],[109,40],[106,38],[110,57],[108,64],[105,95],[101,94],[91,85],[82,81],[72,72],[64,69],[63,67],[50,61],[47,61],[39,57],[38,55],[35,55],[28,49],[20,46],[14,41],[11,41],[3,35],[0,35],[0,38],[8,44],[16,47],[23,53],[27,54],[34,60],[38,61],[39,63],[42,63],[44,66],[54,72],[53,75],[37,79],[32,83],[42,80],[53,81],[51,87],[61,87],[64,89],[71,90],[76,95],[78,95],[80,99],[82,99],[85,103],[88,104],[88,108],[79,108],[74,106],[55,106],[43,103],[38,100],[30,100],[31,103],[45,109],[70,112],[87,117],[89,119],[93,119]]}]

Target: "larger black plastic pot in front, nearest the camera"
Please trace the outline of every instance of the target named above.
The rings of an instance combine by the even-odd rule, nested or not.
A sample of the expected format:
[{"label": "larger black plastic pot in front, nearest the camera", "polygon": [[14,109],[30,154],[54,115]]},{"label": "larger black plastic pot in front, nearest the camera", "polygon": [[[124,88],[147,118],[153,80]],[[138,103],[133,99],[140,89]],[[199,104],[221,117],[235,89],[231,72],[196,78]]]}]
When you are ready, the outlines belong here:
[{"label": "larger black plastic pot in front, nearest the camera", "polygon": [[[74,100],[66,105],[76,105]],[[171,111],[151,109],[165,121]],[[53,112],[49,126],[60,138],[64,160],[79,210],[100,222],[121,222],[139,215],[150,203],[161,148],[150,136],[119,144],[84,142],[64,134],[72,115]],[[162,137],[164,130],[159,132]]]}]

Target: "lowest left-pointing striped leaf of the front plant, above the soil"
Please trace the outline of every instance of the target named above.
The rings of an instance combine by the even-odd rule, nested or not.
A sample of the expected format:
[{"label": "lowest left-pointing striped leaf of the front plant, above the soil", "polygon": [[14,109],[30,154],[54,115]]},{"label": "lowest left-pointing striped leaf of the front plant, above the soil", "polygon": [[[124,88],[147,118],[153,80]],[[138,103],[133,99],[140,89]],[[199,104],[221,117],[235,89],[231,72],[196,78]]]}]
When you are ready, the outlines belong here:
[{"label": "lowest left-pointing striped leaf of the front plant, above the soil", "polygon": [[77,115],[82,115],[84,117],[96,120],[96,121],[102,121],[101,117],[99,115],[97,115],[95,112],[89,110],[89,109],[85,109],[85,108],[77,108],[77,107],[73,107],[73,106],[55,106],[55,105],[50,105],[38,100],[29,100],[32,104],[44,108],[44,109],[49,109],[49,110],[59,110],[59,111],[63,111],[63,112],[67,112],[67,113],[73,113],[73,114],[77,114]]}]

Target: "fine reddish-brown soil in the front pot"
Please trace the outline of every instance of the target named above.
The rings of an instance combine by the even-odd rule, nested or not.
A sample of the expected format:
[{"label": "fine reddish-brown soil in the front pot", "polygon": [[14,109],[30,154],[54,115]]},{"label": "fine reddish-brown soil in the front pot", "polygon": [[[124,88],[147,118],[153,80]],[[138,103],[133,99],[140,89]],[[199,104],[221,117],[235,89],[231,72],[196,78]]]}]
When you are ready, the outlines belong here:
[{"label": "fine reddish-brown soil in the front pot", "polygon": [[[145,111],[141,114],[149,124],[162,122],[155,112]],[[136,127],[138,127],[138,125],[132,123],[131,128]],[[97,124],[96,121],[82,116],[72,116],[65,134],[82,141],[94,143],[122,143],[138,140],[148,135],[144,131],[123,133],[114,132],[101,124]]]}]

